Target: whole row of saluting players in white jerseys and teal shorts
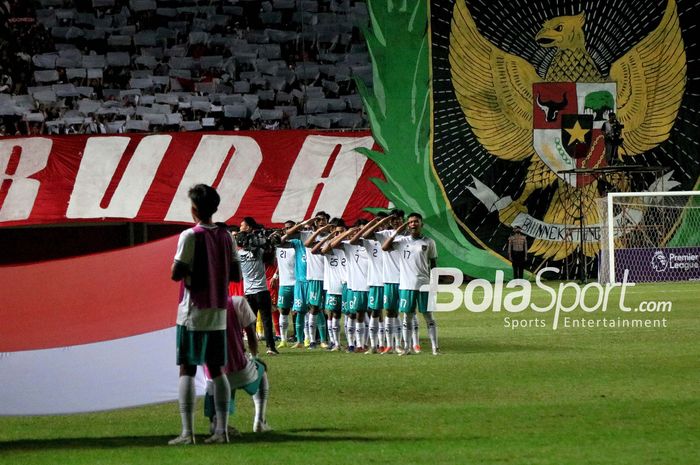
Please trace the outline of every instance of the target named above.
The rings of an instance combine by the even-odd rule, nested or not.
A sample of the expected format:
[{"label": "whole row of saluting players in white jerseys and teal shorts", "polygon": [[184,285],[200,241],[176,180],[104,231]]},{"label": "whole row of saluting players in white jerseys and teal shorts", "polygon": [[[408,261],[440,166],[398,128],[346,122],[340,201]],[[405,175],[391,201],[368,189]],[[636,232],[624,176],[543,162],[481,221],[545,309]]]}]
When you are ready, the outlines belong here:
[{"label": "whole row of saluting players in white jerseys and teal shorts", "polygon": [[288,346],[294,312],[293,348],[340,350],[345,315],[347,352],[420,353],[418,311],[438,355],[437,325],[427,308],[428,293],[420,291],[430,282],[437,250],[422,228],[419,213],[404,221],[400,210],[350,228],[324,212],[298,224],[285,222],[276,246],[282,335],[277,348]]}]

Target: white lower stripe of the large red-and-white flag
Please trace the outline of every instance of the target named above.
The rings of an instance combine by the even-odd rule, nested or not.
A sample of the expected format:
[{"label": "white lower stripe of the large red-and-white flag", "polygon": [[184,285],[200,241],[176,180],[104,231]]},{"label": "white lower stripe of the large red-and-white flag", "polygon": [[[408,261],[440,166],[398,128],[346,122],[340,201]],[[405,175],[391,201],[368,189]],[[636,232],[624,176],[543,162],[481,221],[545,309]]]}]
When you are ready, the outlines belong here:
[{"label": "white lower stripe of the large red-and-white flag", "polygon": [[[94,412],[177,399],[175,327],[111,341],[0,354],[0,415]],[[197,370],[197,394],[205,392]]]}]

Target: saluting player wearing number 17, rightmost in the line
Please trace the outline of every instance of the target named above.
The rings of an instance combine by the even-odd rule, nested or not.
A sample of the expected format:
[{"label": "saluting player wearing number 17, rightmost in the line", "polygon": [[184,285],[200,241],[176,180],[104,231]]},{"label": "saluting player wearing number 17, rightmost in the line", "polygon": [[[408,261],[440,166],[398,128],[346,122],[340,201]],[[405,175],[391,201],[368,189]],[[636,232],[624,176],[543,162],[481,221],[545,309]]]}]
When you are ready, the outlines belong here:
[{"label": "saluting player wearing number 17, rightmost in the line", "polygon": [[[406,229],[408,229],[408,235],[399,236]],[[428,326],[433,355],[439,354],[437,325],[432,312],[428,311],[428,292],[420,290],[422,286],[430,284],[430,270],[436,266],[437,248],[434,240],[423,235],[422,229],[423,217],[420,213],[411,213],[408,215],[408,221],[394,231],[382,245],[382,250],[385,251],[401,251],[399,311],[404,317],[403,331],[406,345],[405,350],[400,351],[399,355],[407,355],[412,351],[408,341],[412,340],[413,314],[416,308],[423,314]]]}]

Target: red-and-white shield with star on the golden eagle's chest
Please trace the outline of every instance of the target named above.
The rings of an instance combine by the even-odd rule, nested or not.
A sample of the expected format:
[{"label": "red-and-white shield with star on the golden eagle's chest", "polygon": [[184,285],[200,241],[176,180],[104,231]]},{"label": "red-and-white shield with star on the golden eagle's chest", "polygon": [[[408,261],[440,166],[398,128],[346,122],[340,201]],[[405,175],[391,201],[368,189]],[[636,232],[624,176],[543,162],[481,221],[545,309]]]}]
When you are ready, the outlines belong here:
[{"label": "red-and-white shield with star on the golden eagle's chest", "polygon": [[589,184],[590,175],[562,172],[607,166],[602,128],[615,111],[615,83],[544,82],[532,90],[535,152],[563,181]]}]

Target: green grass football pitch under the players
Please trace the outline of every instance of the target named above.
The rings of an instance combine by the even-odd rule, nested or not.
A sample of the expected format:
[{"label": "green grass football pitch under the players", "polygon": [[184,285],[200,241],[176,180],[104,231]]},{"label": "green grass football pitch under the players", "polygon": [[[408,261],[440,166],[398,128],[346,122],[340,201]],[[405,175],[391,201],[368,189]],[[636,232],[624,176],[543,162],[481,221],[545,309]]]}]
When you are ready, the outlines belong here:
[{"label": "green grass football pitch under the players", "polygon": [[202,444],[201,399],[196,446],[166,445],[180,429],[174,402],[2,417],[0,464],[698,464],[700,285],[628,290],[631,308],[671,302],[663,312],[620,312],[618,295],[606,312],[560,315],[556,330],[553,312],[437,314],[437,357],[422,320],[419,355],[282,349],[266,358],[274,431],[251,432],[252,400],[239,393],[243,436],[228,445]]}]

